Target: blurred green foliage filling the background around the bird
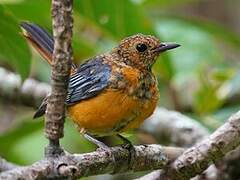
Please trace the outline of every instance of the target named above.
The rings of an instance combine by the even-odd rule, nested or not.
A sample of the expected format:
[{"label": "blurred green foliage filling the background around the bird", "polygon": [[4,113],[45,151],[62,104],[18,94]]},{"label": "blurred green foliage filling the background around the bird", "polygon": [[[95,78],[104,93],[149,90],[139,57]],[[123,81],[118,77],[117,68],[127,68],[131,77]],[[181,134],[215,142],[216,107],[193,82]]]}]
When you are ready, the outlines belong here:
[{"label": "blurred green foliage filling the background around the bird", "polygon": [[[240,92],[239,62],[228,56],[240,48],[240,36],[216,22],[178,16],[171,11],[196,2],[75,0],[75,60],[81,63],[108,51],[120,39],[135,33],[153,34],[162,41],[181,44],[181,48],[160,57],[154,66],[161,90],[159,103],[190,113],[213,130],[240,107],[238,101],[231,100]],[[23,79],[30,72],[32,77],[49,81],[48,65],[19,35],[18,24],[30,21],[51,31],[50,5],[49,0],[0,0],[0,64],[15,70]],[[21,123],[0,135],[0,155],[28,164],[43,155],[43,122],[32,121],[30,116],[18,121]],[[68,120],[62,141],[71,152],[93,148]]]}]

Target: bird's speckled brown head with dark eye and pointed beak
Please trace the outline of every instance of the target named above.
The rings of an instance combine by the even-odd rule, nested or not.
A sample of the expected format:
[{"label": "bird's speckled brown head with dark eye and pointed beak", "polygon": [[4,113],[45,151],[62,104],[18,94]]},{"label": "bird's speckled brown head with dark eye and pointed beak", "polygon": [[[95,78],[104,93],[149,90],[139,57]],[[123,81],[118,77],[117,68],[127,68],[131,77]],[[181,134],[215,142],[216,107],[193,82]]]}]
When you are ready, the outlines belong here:
[{"label": "bird's speckled brown head with dark eye and pointed beak", "polygon": [[123,39],[114,52],[120,55],[120,61],[130,66],[150,69],[160,53],[179,46],[175,43],[161,43],[151,35],[137,34]]}]

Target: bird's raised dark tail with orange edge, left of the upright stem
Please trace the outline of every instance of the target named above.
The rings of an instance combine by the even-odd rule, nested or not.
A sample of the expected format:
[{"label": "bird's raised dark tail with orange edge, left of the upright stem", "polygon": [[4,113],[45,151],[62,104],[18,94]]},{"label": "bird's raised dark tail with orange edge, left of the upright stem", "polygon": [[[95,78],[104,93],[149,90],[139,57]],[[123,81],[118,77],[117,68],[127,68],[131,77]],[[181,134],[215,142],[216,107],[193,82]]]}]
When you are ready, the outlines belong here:
[{"label": "bird's raised dark tail with orange edge, left of the upright stem", "polygon": [[[20,24],[22,28],[22,35],[25,39],[36,49],[41,56],[52,64],[52,54],[54,48],[54,40],[52,36],[45,31],[42,27],[28,22]],[[76,66],[72,64],[71,72],[75,72]]]}]

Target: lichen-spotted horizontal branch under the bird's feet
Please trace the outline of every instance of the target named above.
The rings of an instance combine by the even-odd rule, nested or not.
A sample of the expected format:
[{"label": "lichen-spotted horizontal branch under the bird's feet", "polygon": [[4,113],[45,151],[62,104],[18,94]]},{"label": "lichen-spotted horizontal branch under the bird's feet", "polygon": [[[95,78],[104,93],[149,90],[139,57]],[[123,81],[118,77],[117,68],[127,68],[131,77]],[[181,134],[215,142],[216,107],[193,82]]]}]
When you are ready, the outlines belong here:
[{"label": "lichen-spotted horizontal branch under the bird's feet", "polygon": [[160,145],[134,146],[136,156],[130,163],[131,153],[122,147],[111,148],[113,158],[106,151],[86,154],[66,154],[47,158],[33,165],[19,167],[0,174],[0,179],[46,179],[86,177],[98,174],[116,174],[161,169],[178,157],[183,149]]}]

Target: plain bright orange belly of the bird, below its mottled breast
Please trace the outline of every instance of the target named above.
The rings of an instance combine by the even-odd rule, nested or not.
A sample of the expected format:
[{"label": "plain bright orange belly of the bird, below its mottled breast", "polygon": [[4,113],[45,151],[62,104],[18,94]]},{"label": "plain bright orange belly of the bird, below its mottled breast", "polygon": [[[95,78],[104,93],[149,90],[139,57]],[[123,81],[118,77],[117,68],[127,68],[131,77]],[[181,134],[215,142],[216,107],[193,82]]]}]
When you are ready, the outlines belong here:
[{"label": "plain bright orange belly of the bird, below its mottled breast", "polygon": [[141,101],[122,91],[105,90],[94,98],[68,107],[68,115],[88,133],[105,136],[139,127],[149,117],[158,97]]}]

